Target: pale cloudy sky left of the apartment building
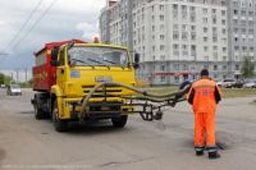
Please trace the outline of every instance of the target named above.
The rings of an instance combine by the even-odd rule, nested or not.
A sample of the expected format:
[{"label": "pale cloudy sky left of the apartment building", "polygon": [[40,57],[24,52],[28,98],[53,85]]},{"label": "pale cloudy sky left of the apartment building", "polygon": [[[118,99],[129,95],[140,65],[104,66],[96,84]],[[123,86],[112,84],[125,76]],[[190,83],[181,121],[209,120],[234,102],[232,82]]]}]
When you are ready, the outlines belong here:
[{"label": "pale cloudy sky left of the apartment building", "polygon": [[[26,27],[11,41],[37,4],[40,6]],[[98,34],[98,18],[105,5],[106,0],[0,0],[0,53],[9,54],[0,55],[0,71],[31,70],[33,52],[47,42],[91,41]]]}]

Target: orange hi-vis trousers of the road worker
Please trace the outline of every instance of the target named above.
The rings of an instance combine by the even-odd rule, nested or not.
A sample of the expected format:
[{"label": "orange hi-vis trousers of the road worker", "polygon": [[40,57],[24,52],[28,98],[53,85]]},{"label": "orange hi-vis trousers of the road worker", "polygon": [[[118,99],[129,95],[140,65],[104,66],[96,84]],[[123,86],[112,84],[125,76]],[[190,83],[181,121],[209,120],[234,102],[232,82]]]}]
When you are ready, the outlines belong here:
[{"label": "orange hi-vis trousers of the road worker", "polygon": [[[206,139],[206,140],[205,140]],[[195,112],[195,147],[215,147],[215,112]]]}]

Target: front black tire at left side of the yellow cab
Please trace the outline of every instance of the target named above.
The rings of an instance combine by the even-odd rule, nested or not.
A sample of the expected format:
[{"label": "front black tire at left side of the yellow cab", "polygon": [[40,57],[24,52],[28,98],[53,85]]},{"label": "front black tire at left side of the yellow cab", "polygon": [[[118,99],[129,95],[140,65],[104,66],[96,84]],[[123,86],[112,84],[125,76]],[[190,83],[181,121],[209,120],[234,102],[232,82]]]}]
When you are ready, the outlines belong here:
[{"label": "front black tire at left side of the yellow cab", "polygon": [[68,122],[58,119],[58,107],[56,100],[53,105],[52,121],[54,124],[55,131],[66,132],[69,130]]}]

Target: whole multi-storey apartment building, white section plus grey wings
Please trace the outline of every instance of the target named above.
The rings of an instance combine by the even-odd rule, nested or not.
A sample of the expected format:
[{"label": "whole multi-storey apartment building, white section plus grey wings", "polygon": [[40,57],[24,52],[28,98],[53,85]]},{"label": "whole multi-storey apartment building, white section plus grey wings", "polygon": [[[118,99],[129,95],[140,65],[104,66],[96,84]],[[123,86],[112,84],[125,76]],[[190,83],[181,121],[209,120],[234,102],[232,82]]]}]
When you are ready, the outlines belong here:
[{"label": "whole multi-storey apartment building, white section plus grey wings", "polygon": [[138,75],[154,85],[197,78],[201,68],[216,80],[239,78],[244,56],[256,53],[255,3],[119,0],[108,8],[108,42],[139,52]]}]

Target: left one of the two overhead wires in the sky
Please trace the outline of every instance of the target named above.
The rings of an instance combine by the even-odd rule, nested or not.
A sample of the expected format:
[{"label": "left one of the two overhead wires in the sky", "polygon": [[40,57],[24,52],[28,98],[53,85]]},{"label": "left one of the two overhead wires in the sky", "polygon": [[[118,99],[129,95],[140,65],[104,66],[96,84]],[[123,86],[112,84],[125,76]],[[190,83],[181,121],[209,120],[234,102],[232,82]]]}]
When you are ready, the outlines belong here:
[{"label": "left one of the two overhead wires in the sky", "polygon": [[4,49],[6,49],[7,47],[9,47],[12,43],[15,42],[15,40],[18,38],[19,34],[21,34],[21,32],[24,30],[24,28],[28,25],[28,23],[30,22],[31,18],[34,16],[34,14],[37,12],[38,8],[40,7],[40,5],[42,4],[43,0],[39,0],[37,2],[37,5],[35,6],[35,8],[31,11],[30,15],[27,17],[27,19],[25,20],[25,22],[22,24],[22,26],[20,27],[20,29],[18,30],[18,32],[13,36],[13,38],[9,41],[9,43],[6,45],[6,47]]}]

